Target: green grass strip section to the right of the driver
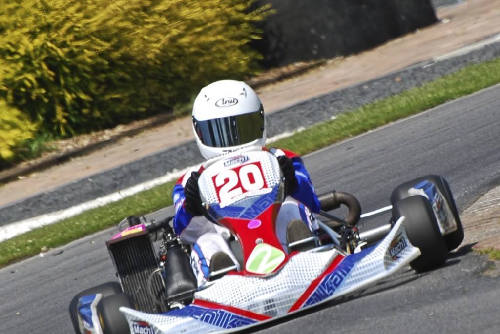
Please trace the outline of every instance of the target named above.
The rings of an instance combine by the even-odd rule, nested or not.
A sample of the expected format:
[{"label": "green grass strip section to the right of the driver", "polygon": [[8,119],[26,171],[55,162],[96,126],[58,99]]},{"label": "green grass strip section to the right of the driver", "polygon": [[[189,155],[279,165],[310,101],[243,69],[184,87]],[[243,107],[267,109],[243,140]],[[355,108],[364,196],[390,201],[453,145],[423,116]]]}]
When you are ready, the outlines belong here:
[{"label": "green grass strip section to the right of the driver", "polygon": [[272,145],[303,155],[499,82],[500,58],[469,65],[422,86],[338,114],[334,120],[296,132]]}]

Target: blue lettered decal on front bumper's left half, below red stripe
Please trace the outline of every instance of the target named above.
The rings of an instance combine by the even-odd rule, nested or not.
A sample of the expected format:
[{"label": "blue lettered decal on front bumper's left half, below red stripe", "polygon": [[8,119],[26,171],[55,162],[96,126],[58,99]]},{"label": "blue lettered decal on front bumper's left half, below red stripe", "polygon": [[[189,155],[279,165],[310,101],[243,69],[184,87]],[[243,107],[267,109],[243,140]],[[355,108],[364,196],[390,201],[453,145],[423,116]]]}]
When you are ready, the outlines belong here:
[{"label": "blue lettered decal on front bumper's left half, below red stripe", "polygon": [[207,309],[195,305],[173,310],[164,314],[165,316],[192,318],[203,323],[224,329],[238,328],[255,324],[257,321],[250,318],[235,315],[219,309]]}]

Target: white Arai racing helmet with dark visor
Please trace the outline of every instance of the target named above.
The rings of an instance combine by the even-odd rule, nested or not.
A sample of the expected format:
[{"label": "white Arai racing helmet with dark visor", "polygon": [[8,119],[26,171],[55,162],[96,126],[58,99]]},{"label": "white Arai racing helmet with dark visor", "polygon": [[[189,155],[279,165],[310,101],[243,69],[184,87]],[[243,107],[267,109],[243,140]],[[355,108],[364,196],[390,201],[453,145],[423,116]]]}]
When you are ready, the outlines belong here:
[{"label": "white Arai racing helmet with dark visor", "polygon": [[192,126],[205,159],[265,145],[262,103],[255,91],[241,81],[221,80],[202,88],[194,100]]}]

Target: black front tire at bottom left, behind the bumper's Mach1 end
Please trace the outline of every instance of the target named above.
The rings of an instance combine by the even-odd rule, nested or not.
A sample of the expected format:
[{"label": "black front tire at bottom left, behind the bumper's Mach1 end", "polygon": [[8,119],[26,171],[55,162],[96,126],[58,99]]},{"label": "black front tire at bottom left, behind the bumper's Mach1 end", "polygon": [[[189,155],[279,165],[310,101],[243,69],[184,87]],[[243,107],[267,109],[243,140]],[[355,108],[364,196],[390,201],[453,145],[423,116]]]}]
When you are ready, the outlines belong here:
[{"label": "black front tire at bottom left, behind the bumper's Mach1 end", "polygon": [[135,309],[133,297],[122,292],[103,298],[97,304],[97,316],[103,334],[130,333],[125,316],[118,310],[121,306]]}]

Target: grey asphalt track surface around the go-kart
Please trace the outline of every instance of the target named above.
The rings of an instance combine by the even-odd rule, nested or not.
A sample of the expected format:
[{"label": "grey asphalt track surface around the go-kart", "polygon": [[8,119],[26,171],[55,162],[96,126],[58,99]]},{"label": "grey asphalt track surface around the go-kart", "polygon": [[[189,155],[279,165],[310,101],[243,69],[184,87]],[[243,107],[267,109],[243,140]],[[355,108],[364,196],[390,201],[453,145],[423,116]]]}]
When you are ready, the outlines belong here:
[{"label": "grey asphalt track surface around the go-kart", "polygon": [[[500,184],[500,86],[447,103],[304,157],[318,193],[347,191],[363,211],[390,191],[435,173],[450,183],[459,210]],[[161,214],[171,212],[166,209]],[[364,228],[379,221],[366,222]],[[77,292],[114,279],[107,230],[0,270],[0,333],[71,333]],[[485,231],[487,233],[487,231]],[[258,333],[498,333],[500,278],[485,256],[462,245],[441,269],[404,269],[343,303],[329,303],[256,329]]]}]

